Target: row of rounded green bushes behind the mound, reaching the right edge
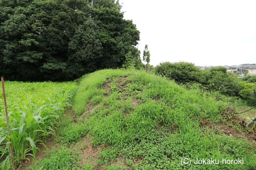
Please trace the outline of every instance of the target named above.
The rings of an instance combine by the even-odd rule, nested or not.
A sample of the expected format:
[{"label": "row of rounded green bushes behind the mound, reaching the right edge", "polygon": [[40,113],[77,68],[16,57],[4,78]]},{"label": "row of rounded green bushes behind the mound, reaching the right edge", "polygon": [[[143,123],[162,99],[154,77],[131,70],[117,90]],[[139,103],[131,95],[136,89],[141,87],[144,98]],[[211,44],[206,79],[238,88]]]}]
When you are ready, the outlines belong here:
[{"label": "row of rounded green bushes behind the mound, reaching the right edge", "polygon": [[154,72],[179,84],[218,91],[225,96],[235,96],[248,100],[250,104],[255,103],[253,90],[256,89],[256,76],[238,78],[237,75],[228,73],[223,66],[201,70],[193,63],[186,62],[160,63],[154,68]]}]

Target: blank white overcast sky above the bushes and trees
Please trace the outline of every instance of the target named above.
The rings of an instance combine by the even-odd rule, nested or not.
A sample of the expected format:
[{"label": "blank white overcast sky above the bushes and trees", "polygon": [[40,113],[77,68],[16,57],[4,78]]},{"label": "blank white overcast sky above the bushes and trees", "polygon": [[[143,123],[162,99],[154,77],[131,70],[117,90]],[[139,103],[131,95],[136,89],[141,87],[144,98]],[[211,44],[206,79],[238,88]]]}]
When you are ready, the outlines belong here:
[{"label": "blank white overcast sky above the bushes and trees", "polygon": [[[122,4],[123,3],[123,4]],[[256,0],[120,0],[150,63],[256,63]]]}]

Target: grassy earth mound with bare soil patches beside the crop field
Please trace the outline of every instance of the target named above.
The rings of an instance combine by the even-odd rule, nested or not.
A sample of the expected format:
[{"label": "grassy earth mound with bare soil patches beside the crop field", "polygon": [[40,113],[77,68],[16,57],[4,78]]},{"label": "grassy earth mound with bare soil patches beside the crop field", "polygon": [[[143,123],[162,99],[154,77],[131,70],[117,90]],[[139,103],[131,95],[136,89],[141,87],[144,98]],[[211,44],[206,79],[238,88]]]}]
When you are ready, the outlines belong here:
[{"label": "grassy earth mound with bare soil patches beside the crop field", "polygon": [[[81,161],[95,169],[256,168],[255,141],[205,126],[225,124],[227,104],[165,78],[100,70],[82,78],[72,107],[75,121],[61,135],[66,143],[87,143],[80,148]],[[88,148],[94,156],[84,155]],[[192,163],[182,165],[184,158]],[[244,162],[194,164],[197,158]]]}]

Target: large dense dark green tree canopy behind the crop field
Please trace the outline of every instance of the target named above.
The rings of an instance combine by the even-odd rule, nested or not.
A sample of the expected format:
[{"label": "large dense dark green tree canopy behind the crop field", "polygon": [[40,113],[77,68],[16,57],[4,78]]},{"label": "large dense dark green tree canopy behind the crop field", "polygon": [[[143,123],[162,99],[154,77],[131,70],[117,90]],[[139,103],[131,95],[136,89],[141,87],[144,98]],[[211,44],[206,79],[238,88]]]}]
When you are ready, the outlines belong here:
[{"label": "large dense dark green tree canopy behind the crop field", "polygon": [[[140,32],[115,0],[0,0],[0,75],[72,80],[121,67]],[[140,62],[141,63],[141,62]]]}]

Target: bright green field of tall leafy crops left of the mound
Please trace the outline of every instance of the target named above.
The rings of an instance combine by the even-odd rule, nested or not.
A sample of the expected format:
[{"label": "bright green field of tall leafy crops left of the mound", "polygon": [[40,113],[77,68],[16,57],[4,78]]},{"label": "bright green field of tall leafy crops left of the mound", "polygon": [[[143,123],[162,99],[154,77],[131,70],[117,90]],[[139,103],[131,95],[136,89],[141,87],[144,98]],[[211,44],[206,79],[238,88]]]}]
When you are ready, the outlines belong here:
[{"label": "bright green field of tall leafy crops left of the mound", "polygon": [[[5,82],[9,114],[10,134],[14,161],[36,154],[36,145],[43,143],[53,134],[55,125],[70,104],[75,90],[74,82]],[[2,87],[0,96],[0,165],[10,167],[9,148],[6,144],[7,128],[3,104]]]}]

